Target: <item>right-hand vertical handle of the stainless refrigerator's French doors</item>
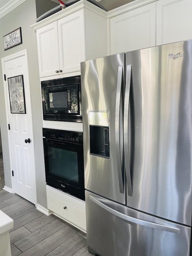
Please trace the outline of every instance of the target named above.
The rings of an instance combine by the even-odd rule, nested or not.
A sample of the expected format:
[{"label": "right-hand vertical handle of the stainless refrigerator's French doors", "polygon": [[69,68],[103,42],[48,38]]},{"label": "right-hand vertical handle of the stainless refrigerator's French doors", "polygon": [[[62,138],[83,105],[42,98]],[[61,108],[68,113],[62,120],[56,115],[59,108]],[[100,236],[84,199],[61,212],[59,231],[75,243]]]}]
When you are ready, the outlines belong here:
[{"label": "right-hand vertical handle of the stainless refrigerator's French doors", "polygon": [[129,142],[128,142],[128,119],[129,119],[129,100],[131,87],[132,65],[127,65],[126,83],[125,83],[125,100],[124,100],[124,156],[125,156],[125,174],[127,180],[127,194],[132,196],[131,168],[129,159]]}]

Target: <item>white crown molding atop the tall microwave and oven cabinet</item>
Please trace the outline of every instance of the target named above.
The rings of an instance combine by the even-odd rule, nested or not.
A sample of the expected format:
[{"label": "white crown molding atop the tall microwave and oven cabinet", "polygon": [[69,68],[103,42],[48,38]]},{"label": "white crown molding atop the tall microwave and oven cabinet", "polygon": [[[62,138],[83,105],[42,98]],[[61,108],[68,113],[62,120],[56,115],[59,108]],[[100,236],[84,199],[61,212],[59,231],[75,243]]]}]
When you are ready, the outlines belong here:
[{"label": "white crown molding atop the tall microwave and oven cabinet", "polygon": [[96,6],[94,4],[91,4],[90,2],[88,2],[86,0],[80,0],[79,2],[76,2],[75,4],[72,4],[63,10],[52,14],[51,16],[45,18],[44,20],[40,20],[39,22],[31,25],[30,28],[33,28],[35,30],[38,28],[42,28],[54,21],[60,20],[63,17],[68,16],[69,14],[79,11],[83,8],[88,9],[92,12],[95,12],[104,18],[107,17],[106,11],[102,10],[101,8],[99,8],[98,6]]}]

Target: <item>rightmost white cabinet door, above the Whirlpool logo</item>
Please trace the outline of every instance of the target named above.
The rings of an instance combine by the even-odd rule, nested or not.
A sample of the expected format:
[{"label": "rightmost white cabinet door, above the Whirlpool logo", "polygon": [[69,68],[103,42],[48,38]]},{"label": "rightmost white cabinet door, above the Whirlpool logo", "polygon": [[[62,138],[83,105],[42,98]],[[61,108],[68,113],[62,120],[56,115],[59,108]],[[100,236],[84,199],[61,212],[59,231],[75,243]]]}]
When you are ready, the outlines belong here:
[{"label": "rightmost white cabinet door, above the Whirlpool logo", "polygon": [[192,0],[159,0],[156,4],[156,45],[192,39]]}]

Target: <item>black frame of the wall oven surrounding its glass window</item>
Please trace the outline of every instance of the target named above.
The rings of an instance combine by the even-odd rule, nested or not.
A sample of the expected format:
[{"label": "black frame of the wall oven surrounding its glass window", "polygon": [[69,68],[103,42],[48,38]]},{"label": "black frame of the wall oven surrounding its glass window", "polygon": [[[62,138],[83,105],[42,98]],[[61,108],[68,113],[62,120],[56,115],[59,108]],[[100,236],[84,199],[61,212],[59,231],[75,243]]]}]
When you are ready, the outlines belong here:
[{"label": "black frame of the wall oven surrounding its glass window", "polygon": [[[50,134],[55,133],[68,133],[68,134],[76,134],[78,137],[77,141],[71,141],[64,138],[51,138]],[[44,143],[44,163],[45,163],[45,176],[46,176],[46,184],[57,188],[61,191],[64,191],[72,196],[75,196],[79,199],[85,200],[85,189],[84,189],[84,160],[83,160],[83,133],[82,132],[71,132],[71,131],[62,131],[55,129],[46,129],[43,128],[43,143]],[[52,147],[72,147],[75,152],[77,152],[78,157],[78,176],[79,183],[73,182],[71,180],[67,180],[61,178],[59,176],[53,175],[49,173],[49,164],[48,164],[48,154],[47,154],[47,146],[51,145]]]}]

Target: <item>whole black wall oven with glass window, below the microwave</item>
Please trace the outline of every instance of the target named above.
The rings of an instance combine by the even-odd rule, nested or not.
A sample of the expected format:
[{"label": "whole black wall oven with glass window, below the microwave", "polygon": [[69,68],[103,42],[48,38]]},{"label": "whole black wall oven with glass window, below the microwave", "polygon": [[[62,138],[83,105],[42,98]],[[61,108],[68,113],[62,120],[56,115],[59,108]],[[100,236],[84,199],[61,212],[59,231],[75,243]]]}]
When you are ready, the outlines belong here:
[{"label": "whole black wall oven with glass window, below the microwave", "polygon": [[83,133],[43,128],[46,183],[85,200]]}]

